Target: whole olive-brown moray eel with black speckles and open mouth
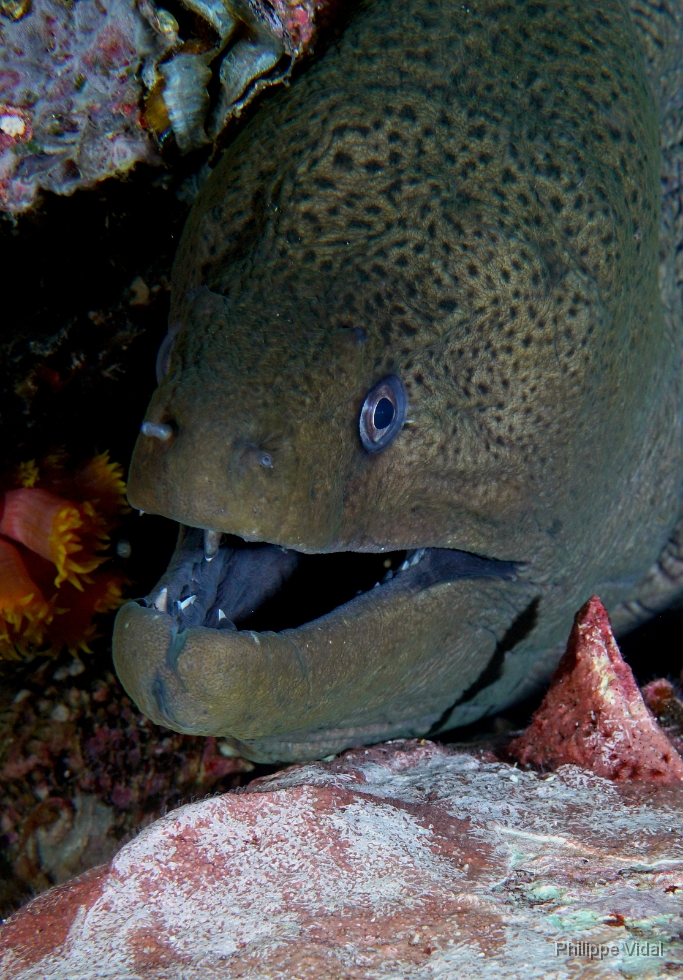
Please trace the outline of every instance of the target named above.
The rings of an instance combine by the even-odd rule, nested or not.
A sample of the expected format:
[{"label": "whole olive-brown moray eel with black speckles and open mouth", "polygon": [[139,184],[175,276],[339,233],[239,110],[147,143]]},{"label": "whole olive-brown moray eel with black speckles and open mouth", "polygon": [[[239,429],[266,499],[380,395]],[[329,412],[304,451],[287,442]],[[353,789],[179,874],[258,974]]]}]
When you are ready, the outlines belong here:
[{"label": "whole olive-brown moray eel with black speckles and open mouth", "polygon": [[228,148],[130,471],[181,524],[115,626],[150,718],[437,733],[592,593],[623,629],[680,591],[680,11],[637,6],[367,0]]}]

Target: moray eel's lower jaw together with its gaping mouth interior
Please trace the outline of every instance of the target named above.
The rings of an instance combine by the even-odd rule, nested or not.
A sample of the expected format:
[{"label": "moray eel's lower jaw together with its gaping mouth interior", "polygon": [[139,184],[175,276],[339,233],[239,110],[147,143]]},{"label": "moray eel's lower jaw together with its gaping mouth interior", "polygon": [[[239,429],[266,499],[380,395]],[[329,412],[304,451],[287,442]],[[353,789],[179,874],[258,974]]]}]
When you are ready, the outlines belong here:
[{"label": "moray eel's lower jaw together with its gaping mouth interior", "polygon": [[257,761],[313,758],[437,723],[528,603],[515,577],[449,549],[302,555],[186,528],[120,610],[114,660],[158,724]]}]

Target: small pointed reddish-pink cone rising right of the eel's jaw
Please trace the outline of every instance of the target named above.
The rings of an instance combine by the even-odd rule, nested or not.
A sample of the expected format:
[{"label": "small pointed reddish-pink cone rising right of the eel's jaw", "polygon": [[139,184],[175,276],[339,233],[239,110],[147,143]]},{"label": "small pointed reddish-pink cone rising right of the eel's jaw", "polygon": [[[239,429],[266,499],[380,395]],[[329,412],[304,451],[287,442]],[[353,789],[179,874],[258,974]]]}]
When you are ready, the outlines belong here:
[{"label": "small pointed reddish-pink cone rising right of the eel's jaw", "polygon": [[508,751],[544,769],[573,763],[607,779],[683,779],[683,759],[645,706],[596,596],[576,614],[550,689]]}]

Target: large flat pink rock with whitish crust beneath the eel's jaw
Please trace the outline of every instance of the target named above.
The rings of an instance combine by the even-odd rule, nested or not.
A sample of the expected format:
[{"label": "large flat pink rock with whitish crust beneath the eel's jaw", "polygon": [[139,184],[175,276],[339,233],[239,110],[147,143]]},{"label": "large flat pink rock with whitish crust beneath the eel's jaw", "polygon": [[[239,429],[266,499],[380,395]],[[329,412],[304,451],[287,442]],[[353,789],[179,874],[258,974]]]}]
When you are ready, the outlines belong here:
[{"label": "large flat pink rock with whitish crust beneath the eel's jaw", "polygon": [[573,766],[354,750],[157,821],[0,927],[0,976],[677,976],[682,805]]}]

